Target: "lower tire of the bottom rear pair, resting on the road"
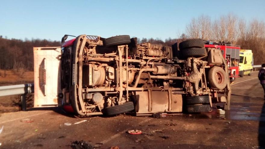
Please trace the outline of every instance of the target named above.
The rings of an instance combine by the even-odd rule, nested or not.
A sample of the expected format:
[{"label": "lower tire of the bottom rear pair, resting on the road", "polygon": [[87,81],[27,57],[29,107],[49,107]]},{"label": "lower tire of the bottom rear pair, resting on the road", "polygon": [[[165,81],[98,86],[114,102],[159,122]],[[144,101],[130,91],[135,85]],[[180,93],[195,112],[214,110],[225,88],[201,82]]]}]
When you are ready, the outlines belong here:
[{"label": "lower tire of the bottom rear pair, resting on the road", "polygon": [[184,111],[187,113],[210,112],[212,110],[210,104],[186,105]]}]

